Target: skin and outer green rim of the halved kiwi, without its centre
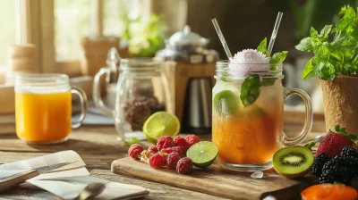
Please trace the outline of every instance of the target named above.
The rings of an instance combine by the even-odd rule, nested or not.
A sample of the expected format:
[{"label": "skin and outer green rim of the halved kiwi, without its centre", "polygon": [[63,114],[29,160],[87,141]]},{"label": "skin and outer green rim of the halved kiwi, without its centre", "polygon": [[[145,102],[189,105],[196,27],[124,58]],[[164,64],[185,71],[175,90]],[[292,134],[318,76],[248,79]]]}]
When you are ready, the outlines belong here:
[{"label": "skin and outer green rim of the halved kiwi, without its centre", "polygon": [[[276,155],[277,155],[280,151],[282,151],[282,150],[284,150],[284,149],[286,149],[286,148],[292,148],[293,150],[296,150],[296,151],[299,150],[299,149],[301,149],[301,150],[304,151],[304,152],[309,152],[310,154],[308,154],[308,155],[305,154],[306,156],[311,156],[311,163],[310,163],[309,167],[308,167],[307,169],[305,169],[304,171],[301,171],[301,172],[299,172],[299,173],[285,173],[285,172],[280,171],[280,169],[278,169],[278,167],[275,166],[275,158],[277,157]],[[311,153],[311,151],[310,151],[307,147],[304,147],[304,146],[288,146],[288,147],[284,147],[284,148],[278,150],[278,151],[274,154],[273,159],[272,159],[272,162],[274,162],[274,169],[275,169],[275,171],[276,171],[279,175],[281,175],[281,176],[283,176],[283,177],[286,177],[287,179],[299,179],[299,178],[303,178],[306,174],[308,174],[308,173],[311,171],[311,167],[312,167],[312,165],[313,165],[313,161],[314,161],[313,154]],[[277,161],[277,162],[278,162],[278,161]]]}]

